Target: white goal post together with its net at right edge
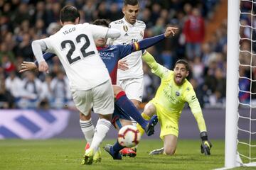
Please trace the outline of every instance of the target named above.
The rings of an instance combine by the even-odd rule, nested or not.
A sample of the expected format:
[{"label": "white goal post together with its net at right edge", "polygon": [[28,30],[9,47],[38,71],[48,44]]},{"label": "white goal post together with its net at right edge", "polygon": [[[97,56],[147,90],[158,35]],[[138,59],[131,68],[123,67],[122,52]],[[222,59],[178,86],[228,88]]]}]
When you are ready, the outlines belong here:
[{"label": "white goal post together with its net at right edge", "polygon": [[[240,3],[246,2],[251,4],[252,8],[248,11],[241,11]],[[254,8],[255,7],[255,8]],[[243,25],[240,22],[242,15],[248,15],[250,21],[248,25]],[[256,55],[253,52],[252,45],[256,43],[253,40],[253,34],[256,34],[253,19],[256,19],[256,0],[228,0],[228,51],[227,51],[227,89],[226,89],[226,109],[225,109],[225,169],[231,169],[235,166],[256,166],[256,145],[255,135],[256,131],[252,127],[256,125],[255,103],[252,102],[252,96],[255,91],[252,91],[252,83],[256,81],[253,79],[252,73],[256,65],[253,60],[256,60]],[[240,29],[247,28],[249,30],[248,37],[240,36]],[[240,42],[247,40],[250,42],[250,50],[241,50]],[[245,64],[240,62],[243,57],[242,52],[247,53],[250,57],[250,63]],[[246,67],[250,72],[249,76],[240,75],[239,68]],[[239,80],[246,79],[250,82],[250,88],[245,91],[240,89]],[[249,94],[247,103],[242,103],[238,98],[238,93]],[[244,115],[240,108],[247,108],[247,115]],[[245,125],[239,125],[240,122],[246,122]],[[247,135],[247,140],[239,139],[239,134]],[[244,142],[245,141],[245,142]],[[248,149],[246,154],[241,154],[238,146]],[[252,153],[254,152],[254,153]],[[245,159],[244,163],[242,160]]]}]

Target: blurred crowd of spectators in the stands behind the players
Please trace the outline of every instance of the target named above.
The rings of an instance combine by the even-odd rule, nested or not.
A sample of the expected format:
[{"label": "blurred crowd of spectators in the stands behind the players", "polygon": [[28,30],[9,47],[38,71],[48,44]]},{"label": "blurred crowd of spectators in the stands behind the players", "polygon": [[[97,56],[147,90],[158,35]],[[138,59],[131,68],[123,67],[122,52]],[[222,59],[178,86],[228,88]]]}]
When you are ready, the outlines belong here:
[{"label": "blurred crowd of spectators in the stands behind the players", "polygon": [[[206,24],[211,21],[219,2],[140,1],[138,19],[146,23],[145,38],[164,33],[168,24],[179,28],[174,38],[166,39],[148,51],[169,69],[180,58],[189,60],[191,75],[188,79],[203,107],[223,107],[225,104],[226,20],[209,40],[205,40]],[[31,41],[51,35],[60,28],[59,12],[67,4],[80,10],[81,23],[97,18],[114,21],[123,17],[122,0],[0,0],[0,108],[74,107],[67,77],[57,57],[49,62],[50,74],[18,73],[21,62],[34,61]],[[248,18],[244,21],[250,22]],[[241,31],[249,36],[248,30]],[[250,50],[250,43],[244,42],[241,47]],[[144,64],[144,102],[154,96],[158,86],[159,79]]]}]

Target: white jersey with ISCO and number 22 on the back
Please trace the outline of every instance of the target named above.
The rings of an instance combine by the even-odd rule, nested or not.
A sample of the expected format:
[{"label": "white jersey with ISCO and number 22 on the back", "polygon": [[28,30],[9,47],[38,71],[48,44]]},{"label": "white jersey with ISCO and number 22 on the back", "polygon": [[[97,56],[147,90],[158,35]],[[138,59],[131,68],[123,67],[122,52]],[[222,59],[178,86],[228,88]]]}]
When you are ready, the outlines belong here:
[{"label": "white jersey with ISCO and number 22 on the back", "polygon": [[110,79],[94,42],[94,38],[105,37],[108,29],[89,23],[68,24],[43,39],[47,52],[55,53],[63,64],[71,89],[92,89]]}]

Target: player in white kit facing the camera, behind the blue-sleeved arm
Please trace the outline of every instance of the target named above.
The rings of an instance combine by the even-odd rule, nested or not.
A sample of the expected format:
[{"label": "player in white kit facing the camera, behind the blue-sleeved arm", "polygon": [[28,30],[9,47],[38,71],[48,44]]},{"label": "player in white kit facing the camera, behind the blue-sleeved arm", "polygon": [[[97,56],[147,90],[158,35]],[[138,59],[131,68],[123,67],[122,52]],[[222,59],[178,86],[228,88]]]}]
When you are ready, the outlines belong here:
[{"label": "player in white kit facing the camera, behind the blue-sleeved arm", "polygon": [[[124,13],[124,18],[110,23],[110,28],[119,29],[121,35],[119,38],[109,38],[107,44],[129,44],[131,42],[138,42],[144,38],[146,25],[143,21],[137,20],[139,14],[139,2],[137,0],[124,0],[122,12]],[[129,69],[118,69],[117,85],[124,89],[127,97],[134,103],[134,106],[139,108],[143,94],[142,51],[132,52],[132,54],[119,60],[119,63],[120,62],[127,64]],[[137,124],[133,119],[132,123],[134,125]],[[129,155],[130,152],[135,151],[129,148],[124,148],[121,152],[124,155]]]}]

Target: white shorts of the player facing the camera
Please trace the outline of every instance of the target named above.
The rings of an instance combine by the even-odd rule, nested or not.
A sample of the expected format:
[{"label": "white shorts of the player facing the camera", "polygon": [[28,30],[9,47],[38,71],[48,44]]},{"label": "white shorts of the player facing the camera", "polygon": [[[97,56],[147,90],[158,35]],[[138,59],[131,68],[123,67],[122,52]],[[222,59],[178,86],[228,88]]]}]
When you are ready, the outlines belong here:
[{"label": "white shorts of the player facing the camera", "polygon": [[142,102],[143,78],[117,80],[117,85],[124,89],[127,98]]}]

